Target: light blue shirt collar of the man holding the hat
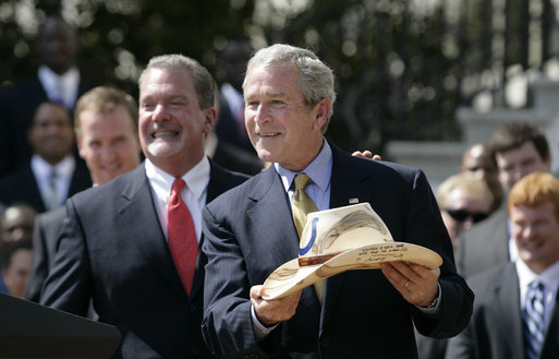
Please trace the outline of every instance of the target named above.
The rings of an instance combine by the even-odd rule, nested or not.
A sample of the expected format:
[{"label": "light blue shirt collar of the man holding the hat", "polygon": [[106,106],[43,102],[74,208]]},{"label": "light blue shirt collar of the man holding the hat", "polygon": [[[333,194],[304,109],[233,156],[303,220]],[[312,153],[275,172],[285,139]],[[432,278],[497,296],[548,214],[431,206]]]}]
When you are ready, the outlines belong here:
[{"label": "light blue shirt collar of the man holding the hat", "polygon": [[332,176],[332,149],[328,144],[328,141],[323,139],[323,148],[318,155],[303,169],[301,172],[293,172],[279,164],[274,164],[276,171],[281,176],[281,181],[285,188],[285,192],[289,191],[291,183],[296,175],[305,172],[314,183],[316,183],[323,192],[326,192],[330,183]]}]

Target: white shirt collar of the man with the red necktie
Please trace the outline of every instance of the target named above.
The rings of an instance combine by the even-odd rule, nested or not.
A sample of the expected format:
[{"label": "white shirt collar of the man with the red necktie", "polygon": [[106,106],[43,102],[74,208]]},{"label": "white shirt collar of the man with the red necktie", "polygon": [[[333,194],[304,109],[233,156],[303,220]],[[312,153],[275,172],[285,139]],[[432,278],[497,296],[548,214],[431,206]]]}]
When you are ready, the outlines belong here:
[{"label": "white shirt collar of the man with the red necktie", "polygon": [[[151,188],[158,198],[167,202],[171,195],[174,176],[167,173],[154,165],[148,158],[146,158],[145,167],[146,176]],[[197,200],[202,198],[209,183],[209,160],[206,156],[203,156],[202,160],[196,166],[182,176],[182,179],[186,182],[186,187],[194,193]]]}]

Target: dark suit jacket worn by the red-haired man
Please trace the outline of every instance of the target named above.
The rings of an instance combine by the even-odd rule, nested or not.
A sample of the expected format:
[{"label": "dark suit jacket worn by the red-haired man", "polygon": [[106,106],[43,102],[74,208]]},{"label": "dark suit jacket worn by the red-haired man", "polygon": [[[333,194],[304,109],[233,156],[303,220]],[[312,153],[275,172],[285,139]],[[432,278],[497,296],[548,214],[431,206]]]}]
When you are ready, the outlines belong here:
[{"label": "dark suit jacket worn by the red-haired man", "polygon": [[[525,359],[517,266],[500,265],[471,279],[474,313],[467,327],[449,340],[448,359]],[[559,358],[559,297],[539,359]]]}]

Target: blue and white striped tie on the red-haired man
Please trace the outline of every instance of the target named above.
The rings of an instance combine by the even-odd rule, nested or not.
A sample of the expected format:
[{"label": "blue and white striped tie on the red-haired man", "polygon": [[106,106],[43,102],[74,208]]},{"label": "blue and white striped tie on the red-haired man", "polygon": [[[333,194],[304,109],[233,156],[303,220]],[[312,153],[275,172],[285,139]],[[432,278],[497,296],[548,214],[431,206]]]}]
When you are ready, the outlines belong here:
[{"label": "blue and white striped tie on the red-haired man", "polygon": [[536,359],[539,356],[544,344],[546,330],[544,314],[544,285],[534,280],[528,286],[523,312],[526,355],[530,359]]}]

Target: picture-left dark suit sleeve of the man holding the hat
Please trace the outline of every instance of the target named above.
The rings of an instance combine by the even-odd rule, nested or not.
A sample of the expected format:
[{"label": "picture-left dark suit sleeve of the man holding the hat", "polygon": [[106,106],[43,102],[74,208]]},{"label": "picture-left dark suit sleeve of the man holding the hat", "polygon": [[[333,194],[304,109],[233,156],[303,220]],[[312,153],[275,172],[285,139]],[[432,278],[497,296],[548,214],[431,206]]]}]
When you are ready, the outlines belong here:
[{"label": "picture-left dark suit sleeve of the man holding the hat", "polygon": [[[241,247],[220,217],[219,206],[206,206],[203,251],[205,267],[204,319],[202,332],[218,358],[238,356],[267,358],[274,352],[278,330],[257,343],[252,326],[250,280]],[[216,213],[212,213],[212,208]],[[279,347],[279,346],[278,346]],[[278,347],[275,347],[276,349]]]}]

